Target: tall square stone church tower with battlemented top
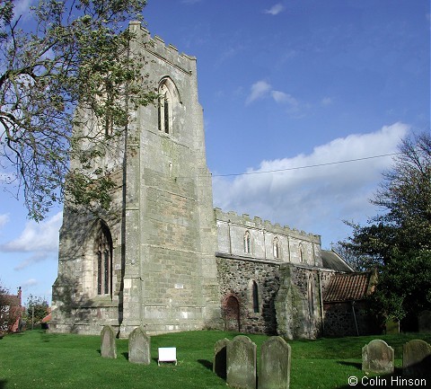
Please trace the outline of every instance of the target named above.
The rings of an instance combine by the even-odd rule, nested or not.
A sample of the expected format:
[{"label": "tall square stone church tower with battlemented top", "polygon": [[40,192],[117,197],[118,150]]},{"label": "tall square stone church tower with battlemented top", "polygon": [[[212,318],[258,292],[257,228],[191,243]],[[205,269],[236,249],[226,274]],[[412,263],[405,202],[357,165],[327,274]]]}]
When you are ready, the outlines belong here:
[{"label": "tall square stone church tower with battlemented top", "polygon": [[[118,182],[102,217],[65,204],[52,332],[120,336],[202,329],[219,321],[216,225],[196,58],[152,39],[139,22],[131,52],[163,98],[131,112],[116,155]],[[115,153],[114,153],[115,154]],[[74,163],[73,163],[74,164]]]}]

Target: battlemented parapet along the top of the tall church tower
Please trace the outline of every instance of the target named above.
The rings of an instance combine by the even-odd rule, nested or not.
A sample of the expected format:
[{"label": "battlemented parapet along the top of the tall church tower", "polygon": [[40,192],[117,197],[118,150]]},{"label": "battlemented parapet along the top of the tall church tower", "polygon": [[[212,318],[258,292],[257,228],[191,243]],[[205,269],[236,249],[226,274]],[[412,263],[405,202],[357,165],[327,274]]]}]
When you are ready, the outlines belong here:
[{"label": "battlemented parapet along the top of the tall church tower", "polygon": [[196,68],[196,57],[189,56],[185,53],[179,53],[178,49],[164,42],[158,35],[151,36],[150,31],[146,30],[141,22],[129,22],[128,28],[136,34],[136,40],[145,46],[145,49],[156,57],[170,62],[172,65],[180,68],[183,72],[192,74]]}]

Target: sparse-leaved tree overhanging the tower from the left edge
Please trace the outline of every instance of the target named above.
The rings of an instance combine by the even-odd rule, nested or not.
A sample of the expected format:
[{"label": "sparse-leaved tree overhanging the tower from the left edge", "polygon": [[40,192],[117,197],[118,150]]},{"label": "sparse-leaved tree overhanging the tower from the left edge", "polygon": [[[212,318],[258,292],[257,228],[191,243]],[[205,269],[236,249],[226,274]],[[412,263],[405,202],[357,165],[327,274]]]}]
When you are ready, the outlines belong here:
[{"label": "sparse-leaved tree overhanging the tower from the left edge", "polygon": [[110,174],[93,161],[123,135],[128,106],[156,98],[123,25],[142,19],[145,3],[40,0],[29,23],[13,0],[1,2],[0,177],[23,193],[29,217],[41,220],[65,196],[109,207]]}]

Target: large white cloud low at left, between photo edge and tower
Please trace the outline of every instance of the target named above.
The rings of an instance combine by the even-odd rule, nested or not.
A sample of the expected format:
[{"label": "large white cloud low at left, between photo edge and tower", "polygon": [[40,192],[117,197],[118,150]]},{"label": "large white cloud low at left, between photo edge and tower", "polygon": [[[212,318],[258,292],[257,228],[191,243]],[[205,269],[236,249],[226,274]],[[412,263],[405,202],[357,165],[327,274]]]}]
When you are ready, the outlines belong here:
[{"label": "large white cloud low at left, between photo edge and tower", "polygon": [[50,217],[48,220],[36,223],[27,222],[22,234],[8,243],[0,245],[2,252],[57,252],[58,230],[63,213]]}]

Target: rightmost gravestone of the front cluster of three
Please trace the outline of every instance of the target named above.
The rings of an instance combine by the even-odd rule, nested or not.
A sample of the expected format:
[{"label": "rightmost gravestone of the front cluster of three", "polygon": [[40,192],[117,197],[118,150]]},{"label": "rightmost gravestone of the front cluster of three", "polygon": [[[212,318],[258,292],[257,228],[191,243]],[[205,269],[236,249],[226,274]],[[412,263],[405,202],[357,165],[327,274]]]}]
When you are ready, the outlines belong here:
[{"label": "rightmost gravestone of the front cluster of three", "polygon": [[260,349],[259,389],[288,389],[291,349],[280,336],[273,336]]}]

